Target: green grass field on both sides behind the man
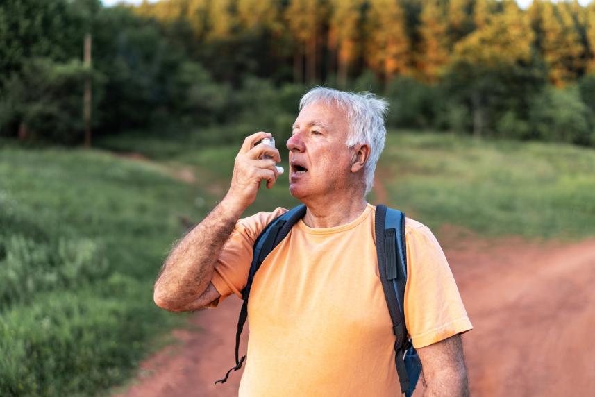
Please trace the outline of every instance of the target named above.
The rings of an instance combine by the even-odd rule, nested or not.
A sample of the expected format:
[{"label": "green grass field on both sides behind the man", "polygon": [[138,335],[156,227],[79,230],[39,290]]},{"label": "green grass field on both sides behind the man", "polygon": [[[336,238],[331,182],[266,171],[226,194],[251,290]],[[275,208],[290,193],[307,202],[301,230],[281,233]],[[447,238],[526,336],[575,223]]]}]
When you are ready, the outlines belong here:
[{"label": "green grass field on both sides behind the man", "polygon": [[[0,142],[0,396],[104,394],[183,323],[153,305],[152,283],[184,232],[180,217],[199,221],[223,196],[240,146],[202,143],[129,135],[84,151]],[[174,178],[181,169],[193,183]],[[451,224],[487,237],[595,235],[593,150],[391,133],[378,176],[387,204],[438,234]],[[246,214],[295,204],[285,174]]]}]

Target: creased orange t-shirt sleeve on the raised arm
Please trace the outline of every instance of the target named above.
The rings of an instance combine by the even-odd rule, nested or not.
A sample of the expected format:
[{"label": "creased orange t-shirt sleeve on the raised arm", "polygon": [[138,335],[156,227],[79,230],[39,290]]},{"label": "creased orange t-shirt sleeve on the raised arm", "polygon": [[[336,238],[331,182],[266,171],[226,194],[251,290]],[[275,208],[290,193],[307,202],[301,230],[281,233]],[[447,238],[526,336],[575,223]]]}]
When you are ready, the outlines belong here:
[{"label": "creased orange t-shirt sleeve on the raised arm", "polygon": [[242,298],[241,291],[248,280],[254,242],[269,222],[286,211],[284,208],[276,208],[273,212],[258,212],[237,221],[233,232],[221,249],[211,279],[212,285],[221,294],[219,302],[231,294]]}]

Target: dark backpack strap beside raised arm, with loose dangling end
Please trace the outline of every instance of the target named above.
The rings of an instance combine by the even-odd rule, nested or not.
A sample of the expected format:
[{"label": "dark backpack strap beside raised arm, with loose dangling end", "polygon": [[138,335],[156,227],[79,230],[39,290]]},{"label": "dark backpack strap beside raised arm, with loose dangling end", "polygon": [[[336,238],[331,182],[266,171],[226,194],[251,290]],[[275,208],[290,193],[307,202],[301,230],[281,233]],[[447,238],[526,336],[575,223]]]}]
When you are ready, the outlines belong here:
[{"label": "dark backpack strap beside raised arm, with loose dangling end", "polygon": [[215,382],[216,384],[219,382],[225,383],[231,371],[237,371],[242,368],[246,356],[244,355],[241,359],[239,358],[240,336],[242,335],[244,324],[248,318],[248,298],[252,288],[252,281],[254,280],[256,271],[260,269],[260,265],[264,262],[267,255],[269,255],[269,253],[271,253],[271,251],[273,251],[274,248],[287,237],[287,234],[290,233],[292,227],[303,218],[305,210],[305,205],[302,204],[285,212],[285,214],[280,215],[280,217],[271,221],[256,239],[253,246],[252,262],[250,264],[250,271],[248,272],[248,280],[246,281],[246,287],[242,289],[242,301],[244,301],[244,303],[242,303],[242,309],[240,310],[240,318],[237,319],[237,331],[235,332],[235,366],[227,371],[225,378],[217,380],[217,382]]}]

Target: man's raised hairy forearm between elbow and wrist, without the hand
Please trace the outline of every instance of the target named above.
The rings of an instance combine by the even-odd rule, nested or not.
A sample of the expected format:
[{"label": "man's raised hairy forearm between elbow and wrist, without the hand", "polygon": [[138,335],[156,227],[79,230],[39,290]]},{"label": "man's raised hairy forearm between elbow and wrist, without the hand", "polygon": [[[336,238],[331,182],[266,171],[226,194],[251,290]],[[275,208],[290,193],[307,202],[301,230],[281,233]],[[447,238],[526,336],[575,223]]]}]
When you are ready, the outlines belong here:
[{"label": "man's raised hairy forearm between elbow and wrist, without the hand", "polygon": [[202,294],[212,278],[221,248],[242,210],[221,201],[171,250],[155,283],[154,299],[167,310],[179,310]]}]

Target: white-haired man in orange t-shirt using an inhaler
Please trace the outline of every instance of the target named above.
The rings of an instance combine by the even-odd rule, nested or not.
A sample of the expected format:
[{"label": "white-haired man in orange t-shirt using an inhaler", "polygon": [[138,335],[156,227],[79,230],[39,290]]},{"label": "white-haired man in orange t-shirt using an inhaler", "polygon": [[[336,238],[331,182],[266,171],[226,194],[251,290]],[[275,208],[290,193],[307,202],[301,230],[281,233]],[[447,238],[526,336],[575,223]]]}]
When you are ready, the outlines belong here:
[{"label": "white-haired man in orange t-shirt using an inhaler", "polygon": [[[240,396],[394,396],[392,321],[378,277],[374,206],[365,196],[385,142],[385,101],[317,87],[303,96],[287,140],[290,193],[305,217],[253,280]],[[246,285],[252,246],[286,210],[240,219],[262,180],[278,177],[277,149],[246,137],[225,198],[171,251],[155,302],[171,311],[216,307]],[[262,159],[263,155],[271,158]],[[427,396],[465,396],[460,333],[472,328],[433,234],[405,221],[405,319]]]}]

